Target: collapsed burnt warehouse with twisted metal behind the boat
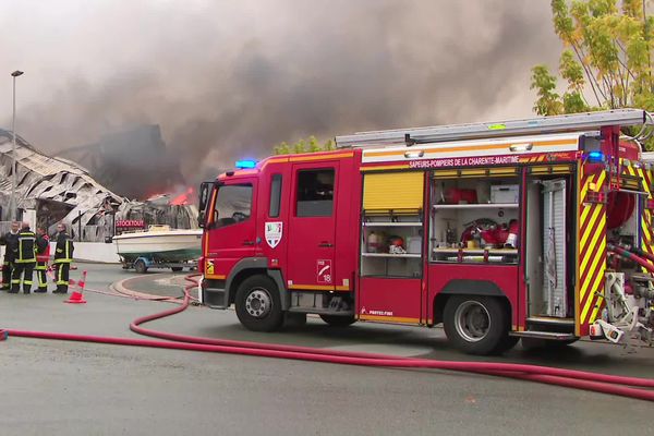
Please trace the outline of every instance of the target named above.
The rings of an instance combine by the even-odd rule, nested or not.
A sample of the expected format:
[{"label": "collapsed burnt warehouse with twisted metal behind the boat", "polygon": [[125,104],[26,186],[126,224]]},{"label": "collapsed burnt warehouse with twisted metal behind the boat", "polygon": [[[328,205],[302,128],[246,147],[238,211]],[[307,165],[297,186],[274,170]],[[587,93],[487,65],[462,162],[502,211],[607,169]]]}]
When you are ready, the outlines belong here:
[{"label": "collapsed burnt warehouse with twisted metal behind the boat", "polygon": [[[12,133],[0,129],[2,231],[11,220],[12,161]],[[62,221],[78,241],[108,240],[116,234],[117,222],[124,220],[140,220],[143,226],[197,228],[197,209],[190,204],[193,198],[189,193],[173,202],[168,195],[156,201],[129,201],[98,183],[80,165],[47,156],[19,135],[15,191],[20,219],[45,227],[49,233],[53,233],[57,222]]]}]

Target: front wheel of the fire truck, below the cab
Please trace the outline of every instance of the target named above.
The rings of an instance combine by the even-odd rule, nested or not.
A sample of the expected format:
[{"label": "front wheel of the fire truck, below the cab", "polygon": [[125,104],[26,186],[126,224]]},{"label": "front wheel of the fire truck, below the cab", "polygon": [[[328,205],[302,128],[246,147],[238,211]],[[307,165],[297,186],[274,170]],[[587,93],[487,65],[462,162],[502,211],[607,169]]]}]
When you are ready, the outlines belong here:
[{"label": "front wheel of the fire truck, below the cab", "polygon": [[252,276],[237,290],[237,316],[253,331],[275,331],[283,323],[281,301],[275,281],[268,276]]}]

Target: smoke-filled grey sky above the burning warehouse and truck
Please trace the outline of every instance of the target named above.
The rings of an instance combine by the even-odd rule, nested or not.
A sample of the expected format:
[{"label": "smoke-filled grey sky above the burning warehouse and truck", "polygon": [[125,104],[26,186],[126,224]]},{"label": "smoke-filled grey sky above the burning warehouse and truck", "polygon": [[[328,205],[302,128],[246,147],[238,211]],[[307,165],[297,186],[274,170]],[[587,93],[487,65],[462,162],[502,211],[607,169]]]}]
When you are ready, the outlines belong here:
[{"label": "smoke-filled grey sky above the burning warehouse and truck", "polygon": [[549,0],[0,0],[0,128],[46,153],[159,124],[190,182],[274,145],[532,117]]}]

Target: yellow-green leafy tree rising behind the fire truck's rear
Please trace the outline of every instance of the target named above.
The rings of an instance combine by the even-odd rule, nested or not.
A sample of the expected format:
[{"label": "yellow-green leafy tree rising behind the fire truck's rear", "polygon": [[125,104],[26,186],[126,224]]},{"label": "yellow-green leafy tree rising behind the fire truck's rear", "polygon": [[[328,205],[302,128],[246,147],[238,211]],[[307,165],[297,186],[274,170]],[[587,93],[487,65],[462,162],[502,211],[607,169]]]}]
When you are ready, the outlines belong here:
[{"label": "yellow-green leafy tree rising behind the fire truck's rear", "polygon": [[532,69],[534,111],[542,116],[635,107],[654,110],[650,0],[552,0],[554,29],[566,49],[557,77],[546,65]]}]

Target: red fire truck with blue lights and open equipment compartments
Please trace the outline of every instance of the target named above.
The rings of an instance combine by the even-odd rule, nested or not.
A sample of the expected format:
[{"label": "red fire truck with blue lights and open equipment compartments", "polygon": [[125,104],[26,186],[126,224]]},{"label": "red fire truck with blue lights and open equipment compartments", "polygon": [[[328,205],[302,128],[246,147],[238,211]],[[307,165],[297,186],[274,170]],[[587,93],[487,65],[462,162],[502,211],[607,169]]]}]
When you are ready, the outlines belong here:
[{"label": "red fire truck with blue lights and open equipment compartments", "polygon": [[649,123],[625,109],[365,132],[226,172],[201,189],[201,300],[257,331],[306,314],[443,323],[475,354],[651,344],[652,170],[620,133]]}]

